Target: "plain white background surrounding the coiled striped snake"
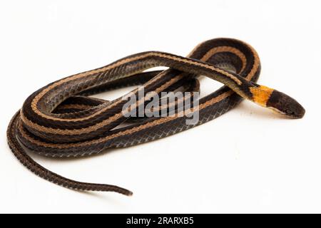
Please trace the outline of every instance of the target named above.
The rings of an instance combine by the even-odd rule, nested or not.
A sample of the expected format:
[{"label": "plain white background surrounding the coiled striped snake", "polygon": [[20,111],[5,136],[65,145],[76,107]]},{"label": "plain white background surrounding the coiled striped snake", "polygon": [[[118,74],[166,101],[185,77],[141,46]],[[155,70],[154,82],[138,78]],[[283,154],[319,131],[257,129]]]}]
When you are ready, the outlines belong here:
[{"label": "plain white background surrounding the coiled striped snake", "polygon": [[[320,1],[1,1],[0,212],[321,212],[320,8]],[[216,37],[254,46],[259,83],[292,95],[305,117],[288,120],[244,101],[144,145],[73,160],[33,155],[58,174],[120,185],[133,197],[58,187],[6,145],[11,116],[47,83],[141,51],[185,56]],[[202,80],[202,94],[218,86]]]}]

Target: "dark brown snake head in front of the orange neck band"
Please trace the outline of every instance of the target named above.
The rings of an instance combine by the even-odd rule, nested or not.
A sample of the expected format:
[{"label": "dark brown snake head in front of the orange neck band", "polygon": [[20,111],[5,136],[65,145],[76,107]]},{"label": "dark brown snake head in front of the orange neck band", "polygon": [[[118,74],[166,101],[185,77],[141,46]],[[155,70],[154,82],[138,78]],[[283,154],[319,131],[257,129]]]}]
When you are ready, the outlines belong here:
[{"label": "dark brown snake head in front of the orange neck band", "polygon": [[267,100],[266,107],[290,118],[297,119],[305,115],[305,108],[297,100],[277,90],[272,91],[270,98]]}]

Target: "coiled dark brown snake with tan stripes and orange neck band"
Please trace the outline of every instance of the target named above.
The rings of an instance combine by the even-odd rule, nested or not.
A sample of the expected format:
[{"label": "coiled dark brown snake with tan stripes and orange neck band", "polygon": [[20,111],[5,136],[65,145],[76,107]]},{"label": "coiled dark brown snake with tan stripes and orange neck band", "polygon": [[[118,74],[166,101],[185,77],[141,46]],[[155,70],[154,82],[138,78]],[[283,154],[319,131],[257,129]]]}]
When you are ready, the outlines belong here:
[{"label": "coiled dark brown snake with tan stripes and orange neck band", "polygon": [[[152,68],[165,67],[155,71]],[[133,192],[116,185],[79,182],[47,170],[30,152],[46,157],[83,157],[119,147],[130,147],[180,133],[228,112],[241,100],[250,100],[288,118],[302,118],[305,109],[289,95],[261,86],[260,58],[250,44],[235,38],[213,38],[196,46],[187,57],[161,51],[146,51],[121,58],[91,71],[62,78],[36,90],[11,118],[7,141],[22,165],[44,180],[78,191]],[[187,125],[186,115],[126,117],[126,100],[103,100],[93,95],[116,88],[135,86],[130,93],[143,98],[148,92],[200,90],[200,77],[223,86],[190,110],[198,112],[197,123]],[[129,93],[127,93],[129,94]],[[175,103],[183,102],[175,100]],[[160,98],[161,99],[161,98]],[[168,105],[175,105],[168,103]],[[161,109],[168,108],[168,105]]]}]

